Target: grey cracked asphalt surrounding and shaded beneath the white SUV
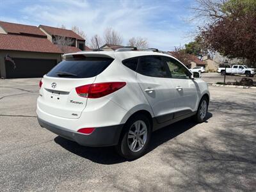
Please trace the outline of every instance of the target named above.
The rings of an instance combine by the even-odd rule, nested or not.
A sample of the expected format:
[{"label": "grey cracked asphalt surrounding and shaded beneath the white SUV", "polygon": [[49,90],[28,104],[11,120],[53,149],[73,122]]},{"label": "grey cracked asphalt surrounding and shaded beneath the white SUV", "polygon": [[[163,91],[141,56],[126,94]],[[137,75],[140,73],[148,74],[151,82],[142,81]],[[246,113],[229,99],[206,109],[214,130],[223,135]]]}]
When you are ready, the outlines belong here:
[{"label": "grey cracked asphalt surrounding and shaded beneath the white SUV", "polygon": [[256,191],[256,90],[210,86],[207,122],[165,127],[125,161],[42,129],[38,81],[0,80],[1,191]]}]

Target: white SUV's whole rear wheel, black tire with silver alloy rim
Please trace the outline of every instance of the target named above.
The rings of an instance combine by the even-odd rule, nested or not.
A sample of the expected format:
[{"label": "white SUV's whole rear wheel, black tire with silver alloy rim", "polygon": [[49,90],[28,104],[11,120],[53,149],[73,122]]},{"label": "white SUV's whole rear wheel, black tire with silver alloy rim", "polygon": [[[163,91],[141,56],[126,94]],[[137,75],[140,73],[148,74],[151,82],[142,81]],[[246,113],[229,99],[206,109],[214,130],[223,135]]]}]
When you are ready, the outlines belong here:
[{"label": "white SUV's whole rear wheel, black tire with silver alloy rim", "polygon": [[[138,125],[139,123],[140,126],[134,125]],[[140,127],[140,131],[143,132],[145,129],[147,129],[147,133],[144,135],[136,134],[136,132],[138,132],[136,127]],[[134,134],[131,134],[131,132]],[[150,120],[147,116],[143,114],[132,116],[132,118],[130,118],[124,125],[124,129],[120,135],[118,145],[116,145],[116,152],[118,152],[120,156],[125,157],[125,159],[138,159],[139,157],[143,156],[143,154],[145,154],[148,143],[150,141],[151,133],[152,125],[150,124]],[[142,141],[144,143],[143,145],[141,145]],[[136,144],[132,145],[132,143],[135,142]]]}]

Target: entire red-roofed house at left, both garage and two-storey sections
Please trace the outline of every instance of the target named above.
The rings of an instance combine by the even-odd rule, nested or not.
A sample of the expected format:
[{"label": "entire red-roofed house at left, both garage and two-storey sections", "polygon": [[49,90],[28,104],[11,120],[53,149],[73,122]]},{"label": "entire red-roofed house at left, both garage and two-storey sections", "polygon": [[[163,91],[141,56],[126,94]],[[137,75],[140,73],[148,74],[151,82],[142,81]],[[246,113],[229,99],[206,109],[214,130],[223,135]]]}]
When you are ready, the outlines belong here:
[{"label": "entire red-roofed house at left, both garage and two-storey sections", "polygon": [[[70,45],[56,44],[56,39]],[[0,77],[42,77],[67,52],[90,51],[85,40],[68,29],[0,21]]]}]

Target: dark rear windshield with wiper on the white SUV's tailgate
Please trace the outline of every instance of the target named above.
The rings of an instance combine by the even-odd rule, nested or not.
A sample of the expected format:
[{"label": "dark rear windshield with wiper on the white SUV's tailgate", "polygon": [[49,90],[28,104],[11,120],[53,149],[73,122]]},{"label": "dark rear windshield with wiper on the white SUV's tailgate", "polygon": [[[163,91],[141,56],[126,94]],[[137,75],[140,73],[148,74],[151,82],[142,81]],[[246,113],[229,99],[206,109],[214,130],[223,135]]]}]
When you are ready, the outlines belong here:
[{"label": "dark rear windshield with wiper on the white SUV's tailgate", "polygon": [[111,58],[68,58],[47,74],[49,77],[88,78],[99,75],[112,63]]}]

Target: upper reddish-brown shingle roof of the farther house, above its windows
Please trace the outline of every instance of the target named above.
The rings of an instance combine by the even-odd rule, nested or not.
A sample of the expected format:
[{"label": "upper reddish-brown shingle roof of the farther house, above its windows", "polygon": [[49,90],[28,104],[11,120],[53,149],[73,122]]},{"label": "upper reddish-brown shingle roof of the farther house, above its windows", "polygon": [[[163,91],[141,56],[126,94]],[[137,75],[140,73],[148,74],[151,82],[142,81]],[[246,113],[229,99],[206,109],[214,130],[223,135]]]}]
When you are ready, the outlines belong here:
[{"label": "upper reddish-brown shingle roof of the farther house, above its windows", "polygon": [[61,29],[61,28],[53,28],[50,26],[40,25],[38,28],[44,29],[49,35],[58,35],[58,36],[66,36],[71,38],[76,38],[77,40],[84,40],[81,36],[77,35],[74,31],[69,29]]}]

